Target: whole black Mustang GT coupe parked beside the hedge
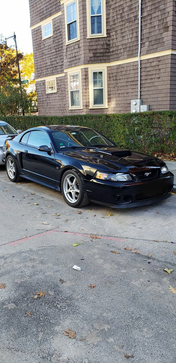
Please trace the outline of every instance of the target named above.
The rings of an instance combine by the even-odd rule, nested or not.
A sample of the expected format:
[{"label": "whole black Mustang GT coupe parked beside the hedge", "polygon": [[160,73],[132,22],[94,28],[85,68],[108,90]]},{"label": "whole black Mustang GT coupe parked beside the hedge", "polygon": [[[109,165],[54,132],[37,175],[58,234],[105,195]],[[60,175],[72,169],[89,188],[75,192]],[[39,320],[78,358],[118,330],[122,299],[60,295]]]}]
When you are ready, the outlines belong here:
[{"label": "whole black Mustang GT coupe parked beside the hedge", "polygon": [[162,160],[118,148],[100,132],[81,126],[41,126],[6,140],[7,175],[62,192],[71,207],[89,201],[113,208],[167,199],[173,174]]}]

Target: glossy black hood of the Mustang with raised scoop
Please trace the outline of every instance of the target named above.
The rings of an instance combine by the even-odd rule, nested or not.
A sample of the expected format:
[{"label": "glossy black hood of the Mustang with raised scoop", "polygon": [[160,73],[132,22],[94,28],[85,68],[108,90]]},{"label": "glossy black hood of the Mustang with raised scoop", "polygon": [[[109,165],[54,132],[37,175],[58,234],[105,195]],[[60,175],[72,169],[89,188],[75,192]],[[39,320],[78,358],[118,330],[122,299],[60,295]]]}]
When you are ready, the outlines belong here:
[{"label": "glossy black hood of the Mustang with raised scoop", "polygon": [[77,149],[65,151],[63,154],[71,158],[82,160],[85,163],[98,164],[111,170],[134,171],[136,168],[161,167],[164,165],[162,160],[144,154],[143,152],[120,149],[118,147]]}]

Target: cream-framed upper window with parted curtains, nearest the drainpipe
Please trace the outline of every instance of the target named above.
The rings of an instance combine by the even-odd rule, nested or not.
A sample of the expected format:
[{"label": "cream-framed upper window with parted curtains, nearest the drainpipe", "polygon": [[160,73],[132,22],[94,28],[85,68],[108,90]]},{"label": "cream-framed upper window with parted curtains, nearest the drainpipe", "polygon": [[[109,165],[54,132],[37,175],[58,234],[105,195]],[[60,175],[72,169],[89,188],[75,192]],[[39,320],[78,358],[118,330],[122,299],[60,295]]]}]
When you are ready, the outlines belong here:
[{"label": "cream-framed upper window with parted curtains, nearest the drainpipe", "polygon": [[106,0],[86,0],[87,37],[106,37]]}]

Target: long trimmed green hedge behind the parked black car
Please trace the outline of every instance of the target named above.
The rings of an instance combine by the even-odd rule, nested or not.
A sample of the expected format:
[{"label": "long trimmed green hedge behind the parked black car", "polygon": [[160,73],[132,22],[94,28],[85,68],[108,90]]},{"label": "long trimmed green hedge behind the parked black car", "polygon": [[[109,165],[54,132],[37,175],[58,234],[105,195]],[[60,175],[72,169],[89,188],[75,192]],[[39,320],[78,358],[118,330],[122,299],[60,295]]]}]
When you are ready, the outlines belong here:
[{"label": "long trimmed green hedge behind the parked black car", "polygon": [[15,129],[40,125],[80,125],[100,131],[119,147],[157,155],[176,155],[176,111],[137,114],[9,116],[1,117]]}]

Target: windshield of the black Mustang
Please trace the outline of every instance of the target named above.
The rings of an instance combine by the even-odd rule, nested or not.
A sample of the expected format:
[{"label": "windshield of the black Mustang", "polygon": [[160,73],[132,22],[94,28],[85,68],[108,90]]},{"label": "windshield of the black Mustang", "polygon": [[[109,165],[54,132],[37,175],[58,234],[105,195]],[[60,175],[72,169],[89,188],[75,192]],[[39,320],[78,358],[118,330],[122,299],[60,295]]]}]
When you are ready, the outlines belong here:
[{"label": "windshield of the black Mustang", "polygon": [[58,149],[79,147],[110,147],[114,144],[105,136],[92,129],[51,131]]}]

